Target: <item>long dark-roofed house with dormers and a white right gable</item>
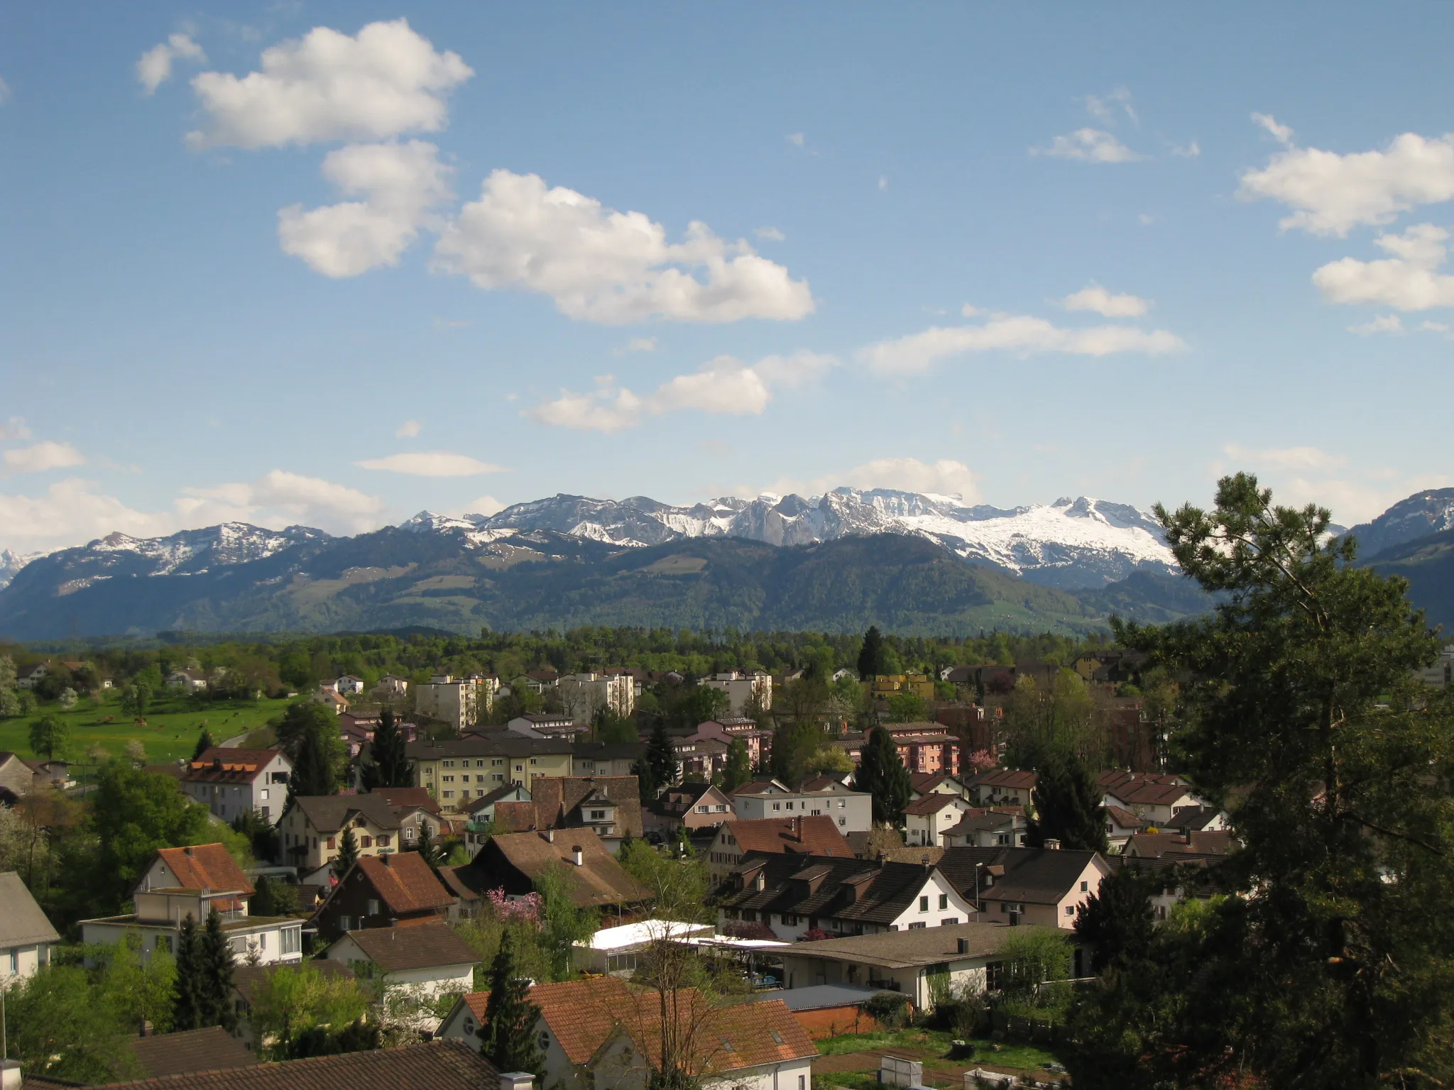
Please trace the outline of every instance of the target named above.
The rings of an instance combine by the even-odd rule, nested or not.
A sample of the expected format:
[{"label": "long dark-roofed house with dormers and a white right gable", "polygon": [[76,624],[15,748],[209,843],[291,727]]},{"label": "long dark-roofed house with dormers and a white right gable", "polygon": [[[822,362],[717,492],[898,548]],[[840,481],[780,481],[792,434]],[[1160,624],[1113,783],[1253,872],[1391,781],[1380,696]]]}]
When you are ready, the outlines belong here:
[{"label": "long dark-roofed house with dormers and a white right gable", "polygon": [[916,863],[749,853],[717,897],[721,920],[765,923],[795,942],[811,930],[838,934],[963,923],[970,901],[938,868]]}]

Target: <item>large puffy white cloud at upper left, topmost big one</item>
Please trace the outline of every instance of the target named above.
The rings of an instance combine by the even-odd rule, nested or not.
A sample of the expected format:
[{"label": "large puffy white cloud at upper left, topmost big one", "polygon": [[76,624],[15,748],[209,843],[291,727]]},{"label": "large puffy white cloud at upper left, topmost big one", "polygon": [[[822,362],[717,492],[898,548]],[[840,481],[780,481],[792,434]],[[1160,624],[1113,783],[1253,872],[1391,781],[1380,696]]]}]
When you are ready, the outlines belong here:
[{"label": "large puffy white cloud at upper left, topmost big one", "polygon": [[263,49],[262,71],[193,77],[208,124],[195,147],[240,148],[438,132],[445,96],[474,76],[458,54],[436,52],[409,22],[369,23],[355,36],[316,26]]}]

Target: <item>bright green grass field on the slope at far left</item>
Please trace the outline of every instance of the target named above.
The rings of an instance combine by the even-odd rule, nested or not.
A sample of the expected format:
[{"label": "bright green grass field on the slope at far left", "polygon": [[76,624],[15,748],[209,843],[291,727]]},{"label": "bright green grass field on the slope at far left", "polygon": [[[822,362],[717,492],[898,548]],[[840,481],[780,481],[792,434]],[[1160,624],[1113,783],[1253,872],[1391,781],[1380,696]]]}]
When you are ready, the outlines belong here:
[{"label": "bright green grass field on the slope at far left", "polygon": [[71,760],[83,762],[92,746],[121,754],[122,747],[137,738],[147,748],[147,763],[167,764],[177,757],[190,757],[196,735],[204,730],[211,731],[214,740],[222,741],[260,730],[286,708],[288,701],[220,701],[196,706],[185,698],[163,698],[153,701],[147,709],[147,725],[140,727],[121,711],[121,695],[108,693],[99,705],[83,699],[71,711],[64,711],[48,703],[35,715],[0,719],[0,750],[12,750],[23,757],[36,756],[31,751],[31,724],[41,715],[57,715],[71,728],[65,754]]}]

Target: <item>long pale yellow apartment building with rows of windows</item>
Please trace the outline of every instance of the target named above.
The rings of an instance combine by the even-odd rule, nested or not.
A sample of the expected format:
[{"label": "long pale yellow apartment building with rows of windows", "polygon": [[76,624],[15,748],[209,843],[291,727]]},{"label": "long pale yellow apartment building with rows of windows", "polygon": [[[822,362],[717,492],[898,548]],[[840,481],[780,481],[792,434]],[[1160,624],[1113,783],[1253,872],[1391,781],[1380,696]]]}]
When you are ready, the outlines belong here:
[{"label": "long pale yellow apartment building with rows of windows", "polygon": [[525,738],[503,731],[446,741],[413,741],[414,783],[427,788],[445,812],[464,810],[502,783],[531,789],[537,776],[569,776],[573,750],[566,738]]}]

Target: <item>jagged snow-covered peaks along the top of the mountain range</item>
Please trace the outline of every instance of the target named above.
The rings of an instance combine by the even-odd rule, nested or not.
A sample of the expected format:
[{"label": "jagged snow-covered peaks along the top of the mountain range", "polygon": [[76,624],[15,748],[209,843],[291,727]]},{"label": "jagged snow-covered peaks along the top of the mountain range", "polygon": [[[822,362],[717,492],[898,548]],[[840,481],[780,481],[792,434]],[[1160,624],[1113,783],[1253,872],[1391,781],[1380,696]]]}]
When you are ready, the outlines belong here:
[{"label": "jagged snow-covered peaks along the top of the mountain range", "polygon": [[836,488],[810,498],[723,497],[692,507],[673,507],[644,496],[593,500],[561,494],[491,516],[420,512],[404,528],[458,533],[474,545],[525,530],[555,530],[627,548],[701,536],[810,545],[869,533],[912,533],[965,560],[1063,589],[1101,587],[1138,570],[1175,570],[1150,514],[1086,497],[1006,510],[887,488]]}]

